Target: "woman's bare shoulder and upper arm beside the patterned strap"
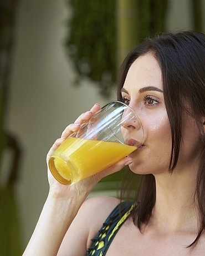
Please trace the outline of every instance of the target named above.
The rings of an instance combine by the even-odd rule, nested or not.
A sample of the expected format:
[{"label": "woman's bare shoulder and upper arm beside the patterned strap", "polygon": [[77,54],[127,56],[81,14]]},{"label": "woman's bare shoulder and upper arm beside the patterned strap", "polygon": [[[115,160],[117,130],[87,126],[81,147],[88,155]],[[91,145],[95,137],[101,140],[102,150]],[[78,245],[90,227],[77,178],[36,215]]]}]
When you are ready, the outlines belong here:
[{"label": "woman's bare shoulder and upper arm beside the patterned strap", "polygon": [[84,201],[61,243],[58,255],[85,255],[107,216],[120,203],[109,196],[95,196]]}]

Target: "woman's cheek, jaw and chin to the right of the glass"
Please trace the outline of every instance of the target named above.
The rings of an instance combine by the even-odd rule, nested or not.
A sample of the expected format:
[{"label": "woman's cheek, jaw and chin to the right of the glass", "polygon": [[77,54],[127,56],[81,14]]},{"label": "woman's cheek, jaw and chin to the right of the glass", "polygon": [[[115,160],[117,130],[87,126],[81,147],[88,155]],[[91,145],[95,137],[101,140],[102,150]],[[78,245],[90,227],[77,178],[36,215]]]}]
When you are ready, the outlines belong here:
[{"label": "woman's cheek, jaw and chin to the right of the glass", "polygon": [[158,173],[168,169],[171,154],[171,130],[166,113],[141,118],[145,132],[145,148],[134,156],[130,169],[134,173]]}]

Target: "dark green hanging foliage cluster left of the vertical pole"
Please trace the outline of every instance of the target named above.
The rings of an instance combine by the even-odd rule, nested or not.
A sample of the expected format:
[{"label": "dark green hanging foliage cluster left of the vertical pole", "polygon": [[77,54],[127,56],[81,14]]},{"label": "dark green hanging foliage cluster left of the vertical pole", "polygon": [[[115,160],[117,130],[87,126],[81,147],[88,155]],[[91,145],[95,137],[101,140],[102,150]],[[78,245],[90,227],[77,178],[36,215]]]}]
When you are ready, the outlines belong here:
[{"label": "dark green hanging foliage cluster left of the vertical pole", "polygon": [[68,54],[79,79],[89,77],[99,82],[100,93],[107,96],[116,78],[115,0],[71,0],[69,3],[73,7],[73,18],[66,42]]}]

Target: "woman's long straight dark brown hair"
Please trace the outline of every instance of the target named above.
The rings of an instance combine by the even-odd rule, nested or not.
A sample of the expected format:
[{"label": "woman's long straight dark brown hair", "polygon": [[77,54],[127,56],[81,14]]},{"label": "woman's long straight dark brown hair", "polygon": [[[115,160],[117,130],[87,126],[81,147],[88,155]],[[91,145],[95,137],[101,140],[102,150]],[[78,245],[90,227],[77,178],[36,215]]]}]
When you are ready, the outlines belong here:
[{"label": "woman's long straight dark brown hair", "polygon": [[[205,229],[205,35],[194,31],[162,33],[147,38],[122,63],[118,81],[118,100],[122,100],[121,88],[132,63],[146,53],[152,53],[162,72],[162,87],[166,111],[170,122],[172,148],[169,170],[172,173],[177,165],[182,140],[182,113],[185,111],[196,120],[201,134],[202,149],[199,159],[195,199],[198,207],[198,235],[188,247],[194,247]],[[186,104],[185,104],[186,102]],[[187,104],[191,109],[188,111]],[[152,174],[130,174],[127,183],[122,184],[121,196],[130,193],[133,181],[137,179],[135,204],[132,218],[141,230],[151,218],[156,201],[156,184]],[[127,188],[127,184],[130,188]]]}]

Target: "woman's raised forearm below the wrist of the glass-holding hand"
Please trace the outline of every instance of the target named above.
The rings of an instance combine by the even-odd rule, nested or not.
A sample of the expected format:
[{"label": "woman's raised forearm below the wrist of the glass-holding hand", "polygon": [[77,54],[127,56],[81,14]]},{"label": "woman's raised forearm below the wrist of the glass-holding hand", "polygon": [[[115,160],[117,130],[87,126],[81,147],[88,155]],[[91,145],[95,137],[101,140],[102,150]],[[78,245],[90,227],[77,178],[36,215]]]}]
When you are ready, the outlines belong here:
[{"label": "woman's raised forearm below the wrist of the glass-holding hand", "polygon": [[49,195],[23,256],[56,256],[81,203],[83,200],[56,199]]}]

